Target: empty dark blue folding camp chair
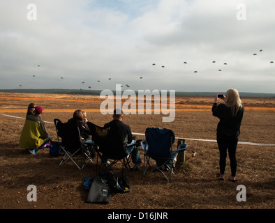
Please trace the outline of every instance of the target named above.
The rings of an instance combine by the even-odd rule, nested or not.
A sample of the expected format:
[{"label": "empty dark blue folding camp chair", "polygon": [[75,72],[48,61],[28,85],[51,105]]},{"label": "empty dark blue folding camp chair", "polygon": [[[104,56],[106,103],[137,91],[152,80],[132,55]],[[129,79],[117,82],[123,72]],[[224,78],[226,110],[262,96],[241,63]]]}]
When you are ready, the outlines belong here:
[{"label": "empty dark blue folding camp chair", "polygon": [[[173,151],[174,132],[166,128],[147,128],[145,139],[142,140],[144,150],[144,172],[143,176],[149,172],[158,170],[170,182],[173,169],[177,161],[177,152],[186,150],[186,144],[180,144],[177,150]],[[167,174],[165,174],[167,172]]]}]

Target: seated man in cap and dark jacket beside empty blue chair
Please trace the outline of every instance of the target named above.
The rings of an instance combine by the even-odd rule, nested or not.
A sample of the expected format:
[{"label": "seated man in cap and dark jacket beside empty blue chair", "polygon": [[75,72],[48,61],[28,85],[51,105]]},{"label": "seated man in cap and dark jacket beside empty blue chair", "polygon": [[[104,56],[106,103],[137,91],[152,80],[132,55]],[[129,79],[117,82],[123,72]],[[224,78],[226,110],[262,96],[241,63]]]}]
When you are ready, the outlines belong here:
[{"label": "seated man in cap and dark jacket beside empty blue chair", "polygon": [[[123,114],[121,109],[115,109],[112,118],[113,120],[110,121],[109,123],[106,123],[104,125],[104,128],[111,127],[112,125],[117,125],[119,129],[120,137],[121,137],[121,142],[124,148],[126,148],[126,146],[129,146],[131,144],[134,144],[135,140],[133,140],[131,128],[129,127],[129,125],[126,125],[125,123],[122,122]],[[140,170],[141,159],[140,159],[140,152],[138,151],[138,148],[136,146],[130,146],[126,148],[125,152],[126,154],[131,153],[132,155],[132,161],[135,164],[133,169]],[[107,163],[107,158],[104,157],[104,154],[103,154],[102,162]]]}]

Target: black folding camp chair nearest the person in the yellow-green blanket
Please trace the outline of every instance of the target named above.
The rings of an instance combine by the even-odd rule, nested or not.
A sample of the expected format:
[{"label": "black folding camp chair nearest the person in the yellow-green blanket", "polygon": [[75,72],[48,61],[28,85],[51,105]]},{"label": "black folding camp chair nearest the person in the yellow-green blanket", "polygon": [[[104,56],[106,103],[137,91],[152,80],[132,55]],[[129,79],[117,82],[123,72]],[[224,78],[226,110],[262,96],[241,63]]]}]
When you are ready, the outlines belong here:
[{"label": "black folding camp chair nearest the person in the yellow-green blanket", "polygon": [[[61,162],[59,166],[65,164],[68,160],[73,161],[76,167],[80,170],[84,169],[85,164],[91,161],[94,162],[91,157],[91,153],[94,150],[94,144],[88,144],[82,141],[80,130],[77,125],[68,129],[66,123],[62,123],[59,119],[54,119],[54,125],[57,130],[57,144],[61,151]],[[61,141],[59,139],[61,137]],[[82,157],[82,167],[77,164],[77,159]]]}]

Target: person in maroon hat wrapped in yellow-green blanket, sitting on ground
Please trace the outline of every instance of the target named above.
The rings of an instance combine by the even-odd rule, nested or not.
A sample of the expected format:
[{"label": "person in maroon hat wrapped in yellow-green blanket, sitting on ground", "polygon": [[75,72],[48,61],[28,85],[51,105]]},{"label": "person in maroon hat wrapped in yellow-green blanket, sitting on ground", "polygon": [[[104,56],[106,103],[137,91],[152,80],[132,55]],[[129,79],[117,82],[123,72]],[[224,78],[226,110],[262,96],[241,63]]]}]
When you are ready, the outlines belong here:
[{"label": "person in maroon hat wrapped in yellow-green blanket, sitting on ground", "polygon": [[27,148],[32,154],[36,154],[52,139],[47,132],[45,122],[40,117],[43,108],[37,106],[34,112],[34,115],[27,115],[19,142],[21,148]]}]

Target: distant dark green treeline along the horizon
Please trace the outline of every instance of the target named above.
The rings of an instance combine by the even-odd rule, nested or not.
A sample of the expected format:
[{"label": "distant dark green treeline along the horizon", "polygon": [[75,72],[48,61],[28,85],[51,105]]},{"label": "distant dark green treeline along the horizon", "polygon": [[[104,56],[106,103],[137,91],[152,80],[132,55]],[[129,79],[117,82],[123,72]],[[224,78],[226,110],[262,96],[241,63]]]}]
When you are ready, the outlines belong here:
[{"label": "distant dark green treeline along the horizon", "polygon": [[[61,93],[61,94],[75,94],[75,95],[100,95],[101,90],[84,90],[84,89],[0,89],[0,92],[10,92],[10,93]],[[113,91],[115,94],[115,91]],[[169,91],[168,91],[169,93]],[[181,92],[176,91],[176,95],[192,95],[192,96],[214,96],[217,93],[225,92]],[[268,97],[274,98],[275,93],[249,93],[240,92],[241,97]]]}]

